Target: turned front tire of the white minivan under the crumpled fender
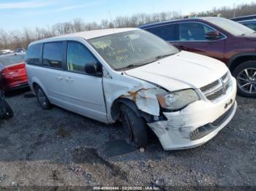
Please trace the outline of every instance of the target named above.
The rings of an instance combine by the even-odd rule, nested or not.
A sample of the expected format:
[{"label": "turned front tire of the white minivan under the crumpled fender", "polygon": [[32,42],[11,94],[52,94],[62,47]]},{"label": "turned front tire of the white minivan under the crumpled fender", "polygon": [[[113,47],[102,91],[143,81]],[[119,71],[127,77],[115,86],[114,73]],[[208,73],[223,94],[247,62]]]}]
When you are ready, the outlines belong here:
[{"label": "turned front tire of the white minivan under the crumpled fender", "polygon": [[146,121],[143,117],[138,117],[129,106],[121,104],[121,123],[127,141],[131,142],[135,147],[146,147],[148,144],[148,132]]}]

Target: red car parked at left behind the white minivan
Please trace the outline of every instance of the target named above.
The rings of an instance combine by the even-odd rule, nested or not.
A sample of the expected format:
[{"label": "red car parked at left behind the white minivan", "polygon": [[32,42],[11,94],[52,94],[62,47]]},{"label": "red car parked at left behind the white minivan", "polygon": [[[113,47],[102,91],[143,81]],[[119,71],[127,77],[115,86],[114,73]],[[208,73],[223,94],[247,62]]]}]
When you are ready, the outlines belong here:
[{"label": "red car parked at left behind the white minivan", "polygon": [[28,87],[28,78],[24,62],[25,54],[1,55],[0,57],[0,89],[8,92]]}]

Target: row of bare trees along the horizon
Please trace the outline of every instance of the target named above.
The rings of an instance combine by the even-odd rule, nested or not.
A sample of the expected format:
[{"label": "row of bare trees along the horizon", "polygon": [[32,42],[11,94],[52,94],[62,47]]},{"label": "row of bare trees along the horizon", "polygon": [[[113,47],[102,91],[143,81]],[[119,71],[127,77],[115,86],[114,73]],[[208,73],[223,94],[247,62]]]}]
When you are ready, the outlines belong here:
[{"label": "row of bare trees along the horizon", "polygon": [[[222,14],[222,17],[253,15],[256,14],[256,3],[240,4],[236,7],[214,7],[204,12],[191,12],[197,16],[211,16]],[[50,36],[70,34],[80,31],[90,31],[100,28],[121,28],[121,27],[137,27],[146,23],[155,23],[164,20],[172,20],[184,17],[180,11],[159,12],[159,13],[139,13],[130,17],[116,17],[113,21],[102,20],[100,23],[84,23],[80,18],[76,18],[69,22],[56,23],[51,27],[45,28],[24,28],[23,31],[4,31],[0,28],[0,49],[15,49],[17,47],[26,48],[29,43],[38,39],[45,39]]]}]

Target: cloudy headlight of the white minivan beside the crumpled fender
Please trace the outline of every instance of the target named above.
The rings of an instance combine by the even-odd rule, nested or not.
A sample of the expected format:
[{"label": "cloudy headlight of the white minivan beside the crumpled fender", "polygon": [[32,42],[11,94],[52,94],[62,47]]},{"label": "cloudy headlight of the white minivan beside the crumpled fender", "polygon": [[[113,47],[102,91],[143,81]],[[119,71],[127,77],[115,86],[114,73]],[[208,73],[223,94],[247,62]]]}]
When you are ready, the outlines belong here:
[{"label": "cloudy headlight of the white minivan beside the crumpled fender", "polygon": [[165,95],[159,94],[157,98],[163,109],[175,111],[183,109],[194,101],[200,100],[195,90],[192,89],[167,93]]}]

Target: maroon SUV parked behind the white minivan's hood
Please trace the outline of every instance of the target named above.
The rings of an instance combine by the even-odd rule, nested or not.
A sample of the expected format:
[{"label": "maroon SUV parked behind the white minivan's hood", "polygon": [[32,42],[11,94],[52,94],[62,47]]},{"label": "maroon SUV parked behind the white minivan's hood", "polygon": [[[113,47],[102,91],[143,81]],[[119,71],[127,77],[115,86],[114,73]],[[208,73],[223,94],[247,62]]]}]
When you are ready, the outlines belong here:
[{"label": "maroon SUV parked behind the white minivan's hood", "polygon": [[171,20],[140,26],[180,50],[208,55],[227,64],[238,93],[256,98],[256,32],[222,17]]}]

